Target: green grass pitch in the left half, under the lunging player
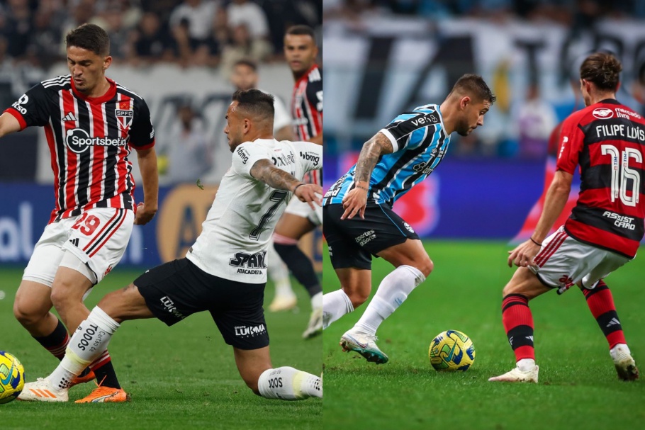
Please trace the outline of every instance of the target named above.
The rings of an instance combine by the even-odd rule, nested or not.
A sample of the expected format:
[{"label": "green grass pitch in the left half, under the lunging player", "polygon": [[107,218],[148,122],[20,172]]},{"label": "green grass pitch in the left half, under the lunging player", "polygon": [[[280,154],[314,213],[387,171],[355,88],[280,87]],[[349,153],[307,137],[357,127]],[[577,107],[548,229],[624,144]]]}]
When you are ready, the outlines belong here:
[{"label": "green grass pitch in the left half, under the lunging player", "polygon": [[[94,288],[86,304],[123,288],[142,273],[116,268]],[[13,318],[13,297],[21,268],[0,269],[0,349],[23,363],[28,381],[48,375],[57,360]],[[299,312],[267,312],[274,366],[293,366],[319,374],[320,337],[301,339],[310,304],[304,288],[293,281]],[[1,293],[0,293],[1,295]],[[267,287],[265,309],[273,295]],[[109,350],[121,385],[133,401],[121,404],[63,404],[14,401],[0,404],[0,429],[320,429],[322,400],[267,400],[254,395],[237,373],[233,353],[207,312],[174,327],[157,319],[128,321],[113,337]],[[77,385],[70,400],[87,395],[94,383]]]}]

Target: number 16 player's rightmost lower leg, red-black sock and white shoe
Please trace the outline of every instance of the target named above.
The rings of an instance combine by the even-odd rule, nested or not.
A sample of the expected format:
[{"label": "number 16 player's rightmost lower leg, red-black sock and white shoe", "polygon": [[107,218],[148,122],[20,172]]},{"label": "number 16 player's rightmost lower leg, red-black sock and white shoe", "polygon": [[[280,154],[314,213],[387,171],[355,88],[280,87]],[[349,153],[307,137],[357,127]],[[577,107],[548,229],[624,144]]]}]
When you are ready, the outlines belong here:
[{"label": "number 16 player's rightmost lower leg, red-black sock and white shoe", "polygon": [[598,281],[595,288],[591,290],[588,288],[581,289],[587,300],[591,315],[598,322],[602,334],[605,334],[618,378],[622,380],[638,379],[639,370],[636,368],[636,362],[632,358],[629,346],[627,346],[611,290],[602,280]]}]

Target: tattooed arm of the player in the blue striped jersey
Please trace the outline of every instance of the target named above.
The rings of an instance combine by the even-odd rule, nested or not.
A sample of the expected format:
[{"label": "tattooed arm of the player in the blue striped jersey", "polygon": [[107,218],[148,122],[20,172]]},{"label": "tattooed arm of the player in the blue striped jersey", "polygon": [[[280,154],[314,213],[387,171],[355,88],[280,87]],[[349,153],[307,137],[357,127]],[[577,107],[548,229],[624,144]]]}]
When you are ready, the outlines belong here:
[{"label": "tattooed arm of the player in the blue striped jersey", "polygon": [[392,142],[381,132],[376,133],[374,137],[365,142],[359,155],[359,161],[356,162],[355,186],[342,199],[342,207],[345,211],[340,217],[341,220],[345,218],[351,219],[357,213],[361,218],[365,218],[369,178],[381,155],[391,154],[392,152],[394,152]]}]

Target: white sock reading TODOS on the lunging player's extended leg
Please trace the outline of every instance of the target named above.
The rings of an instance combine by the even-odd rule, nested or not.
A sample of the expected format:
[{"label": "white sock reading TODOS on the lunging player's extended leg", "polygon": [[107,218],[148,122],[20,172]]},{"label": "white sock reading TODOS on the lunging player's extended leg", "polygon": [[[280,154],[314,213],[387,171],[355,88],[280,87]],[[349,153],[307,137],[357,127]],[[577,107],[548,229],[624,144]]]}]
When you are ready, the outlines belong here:
[{"label": "white sock reading TODOS on the lunging player's extended leg", "polygon": [[96,360],[108,347],[118,322],[96,306],[69,339],[65,356],[47,377],[54,387],[67,390],[72,379],[80,375],[89,363]]}]

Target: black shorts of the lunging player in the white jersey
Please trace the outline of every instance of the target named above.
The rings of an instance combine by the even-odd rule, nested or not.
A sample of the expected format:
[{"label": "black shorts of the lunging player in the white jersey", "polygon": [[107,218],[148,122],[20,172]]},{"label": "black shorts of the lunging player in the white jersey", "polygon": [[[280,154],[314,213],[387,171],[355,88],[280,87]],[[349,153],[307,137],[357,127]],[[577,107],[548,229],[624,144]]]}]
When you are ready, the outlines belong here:
[{"label": "black shorts of the lunging player in the white jersey", "polygon": [[227,344],[239,349],[269,345],[264,283],[229,281],[180,259],[151,268],[134,284],[152,314],[169,326],[208,310]]}]

